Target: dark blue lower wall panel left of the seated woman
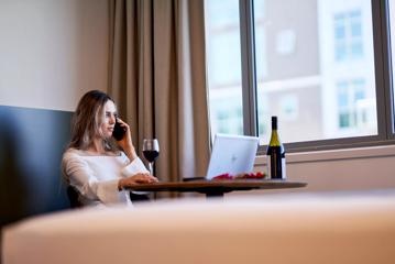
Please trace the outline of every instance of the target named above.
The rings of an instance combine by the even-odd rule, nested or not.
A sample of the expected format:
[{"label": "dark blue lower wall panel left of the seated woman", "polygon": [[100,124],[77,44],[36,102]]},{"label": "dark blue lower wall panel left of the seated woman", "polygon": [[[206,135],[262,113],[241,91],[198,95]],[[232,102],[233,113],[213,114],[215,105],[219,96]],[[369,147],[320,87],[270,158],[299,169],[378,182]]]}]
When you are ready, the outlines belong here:
[{"label": "dark blue lower wall panel left of the seated woman", "polygon": [[67,209],[61,160],[72,112],[0,106],[0,228]]}]

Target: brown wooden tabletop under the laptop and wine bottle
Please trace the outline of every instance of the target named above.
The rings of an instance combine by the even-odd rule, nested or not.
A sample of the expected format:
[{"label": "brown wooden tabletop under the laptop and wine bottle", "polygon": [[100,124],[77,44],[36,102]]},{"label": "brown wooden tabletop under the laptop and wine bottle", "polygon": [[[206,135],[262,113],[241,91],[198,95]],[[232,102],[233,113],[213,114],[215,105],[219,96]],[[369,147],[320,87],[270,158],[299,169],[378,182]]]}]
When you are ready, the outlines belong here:
[{"label": "brown wooden tabletop under the laptop and wine bottle", "polygon": [[235,190],[300,188],[306,185],[306,183],[283,179],[221,179],[141,184],[128,189],[136,191],[194,191],[205,194],[206,197],[223,197],[223,194]]}]

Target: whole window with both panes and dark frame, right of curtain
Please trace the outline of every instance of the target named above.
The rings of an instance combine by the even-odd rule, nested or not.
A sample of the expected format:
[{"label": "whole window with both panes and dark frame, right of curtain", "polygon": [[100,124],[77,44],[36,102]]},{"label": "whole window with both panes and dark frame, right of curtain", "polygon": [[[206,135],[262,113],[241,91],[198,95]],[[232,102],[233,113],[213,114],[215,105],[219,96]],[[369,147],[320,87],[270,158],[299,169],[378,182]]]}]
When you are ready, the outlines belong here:
[{"label": "whole window with both panes and dark frame, right of curtain", "polygon": [[[235,0],[206,0],[212,134],[255,134],[264,145],[270,119],[277,116],[288,150],[389,142],[384,117],[391,110],[382,107],[389,106],[384,96],[389,87],[376,77],[389,79],[383,67],[388,57],[375,57],[387,40],[373,31],[388,26],[380,12],[387,3],[245,0],[239,6]],[[231,10],[221,25],[227,34],[213,22],[226,10]],[[391,26],[394,32],[394,21]],[[218,40],[221,44],[213,44]],[[213,76],[215,67],[221,74]]]}]

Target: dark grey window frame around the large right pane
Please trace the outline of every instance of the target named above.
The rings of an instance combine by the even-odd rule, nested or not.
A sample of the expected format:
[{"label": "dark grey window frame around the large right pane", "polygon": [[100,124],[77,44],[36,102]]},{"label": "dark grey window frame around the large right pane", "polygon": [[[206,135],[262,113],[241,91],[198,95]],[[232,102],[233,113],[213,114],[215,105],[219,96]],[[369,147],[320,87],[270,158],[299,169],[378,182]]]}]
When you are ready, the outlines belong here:
[{"label": "dark grey window frame around the large right pane", "polygon": [[[254,0],[239,0],[242,70],[243,132],[257,135],[257,101],[255,74]],[[388,0],[371,0],[373,52],[375,69],[377,135],[328,139],[285,143],[287,152],[337,150],[395,144],[394,95],[389,42]],[[394,40],[395,41],[395,40]],[[308,129],[308,128],[306,128]],[[281,128],[279,128],[281,132]],[[268,139],[267,139],[268,141]],[[260,145],[257,154],[265,154],[266,145]]]}]

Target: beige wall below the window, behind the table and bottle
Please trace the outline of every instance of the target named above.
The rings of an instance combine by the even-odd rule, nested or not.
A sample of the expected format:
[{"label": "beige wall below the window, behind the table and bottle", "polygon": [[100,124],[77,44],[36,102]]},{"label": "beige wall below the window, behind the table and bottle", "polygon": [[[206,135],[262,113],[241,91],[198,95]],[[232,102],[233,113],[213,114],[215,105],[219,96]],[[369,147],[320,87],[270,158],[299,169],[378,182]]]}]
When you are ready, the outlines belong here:
[{"label": "beige wall below the window, behind the table and bottle", "polygon": [[[290,153],[286,155],[286,158],[288,179],[307,183],[307,187],[255,190],[231,194],[231,196],[395,188],[394,145]],[[255,170],[264,172],[266,168],[266,157],[259,156]]]}]

